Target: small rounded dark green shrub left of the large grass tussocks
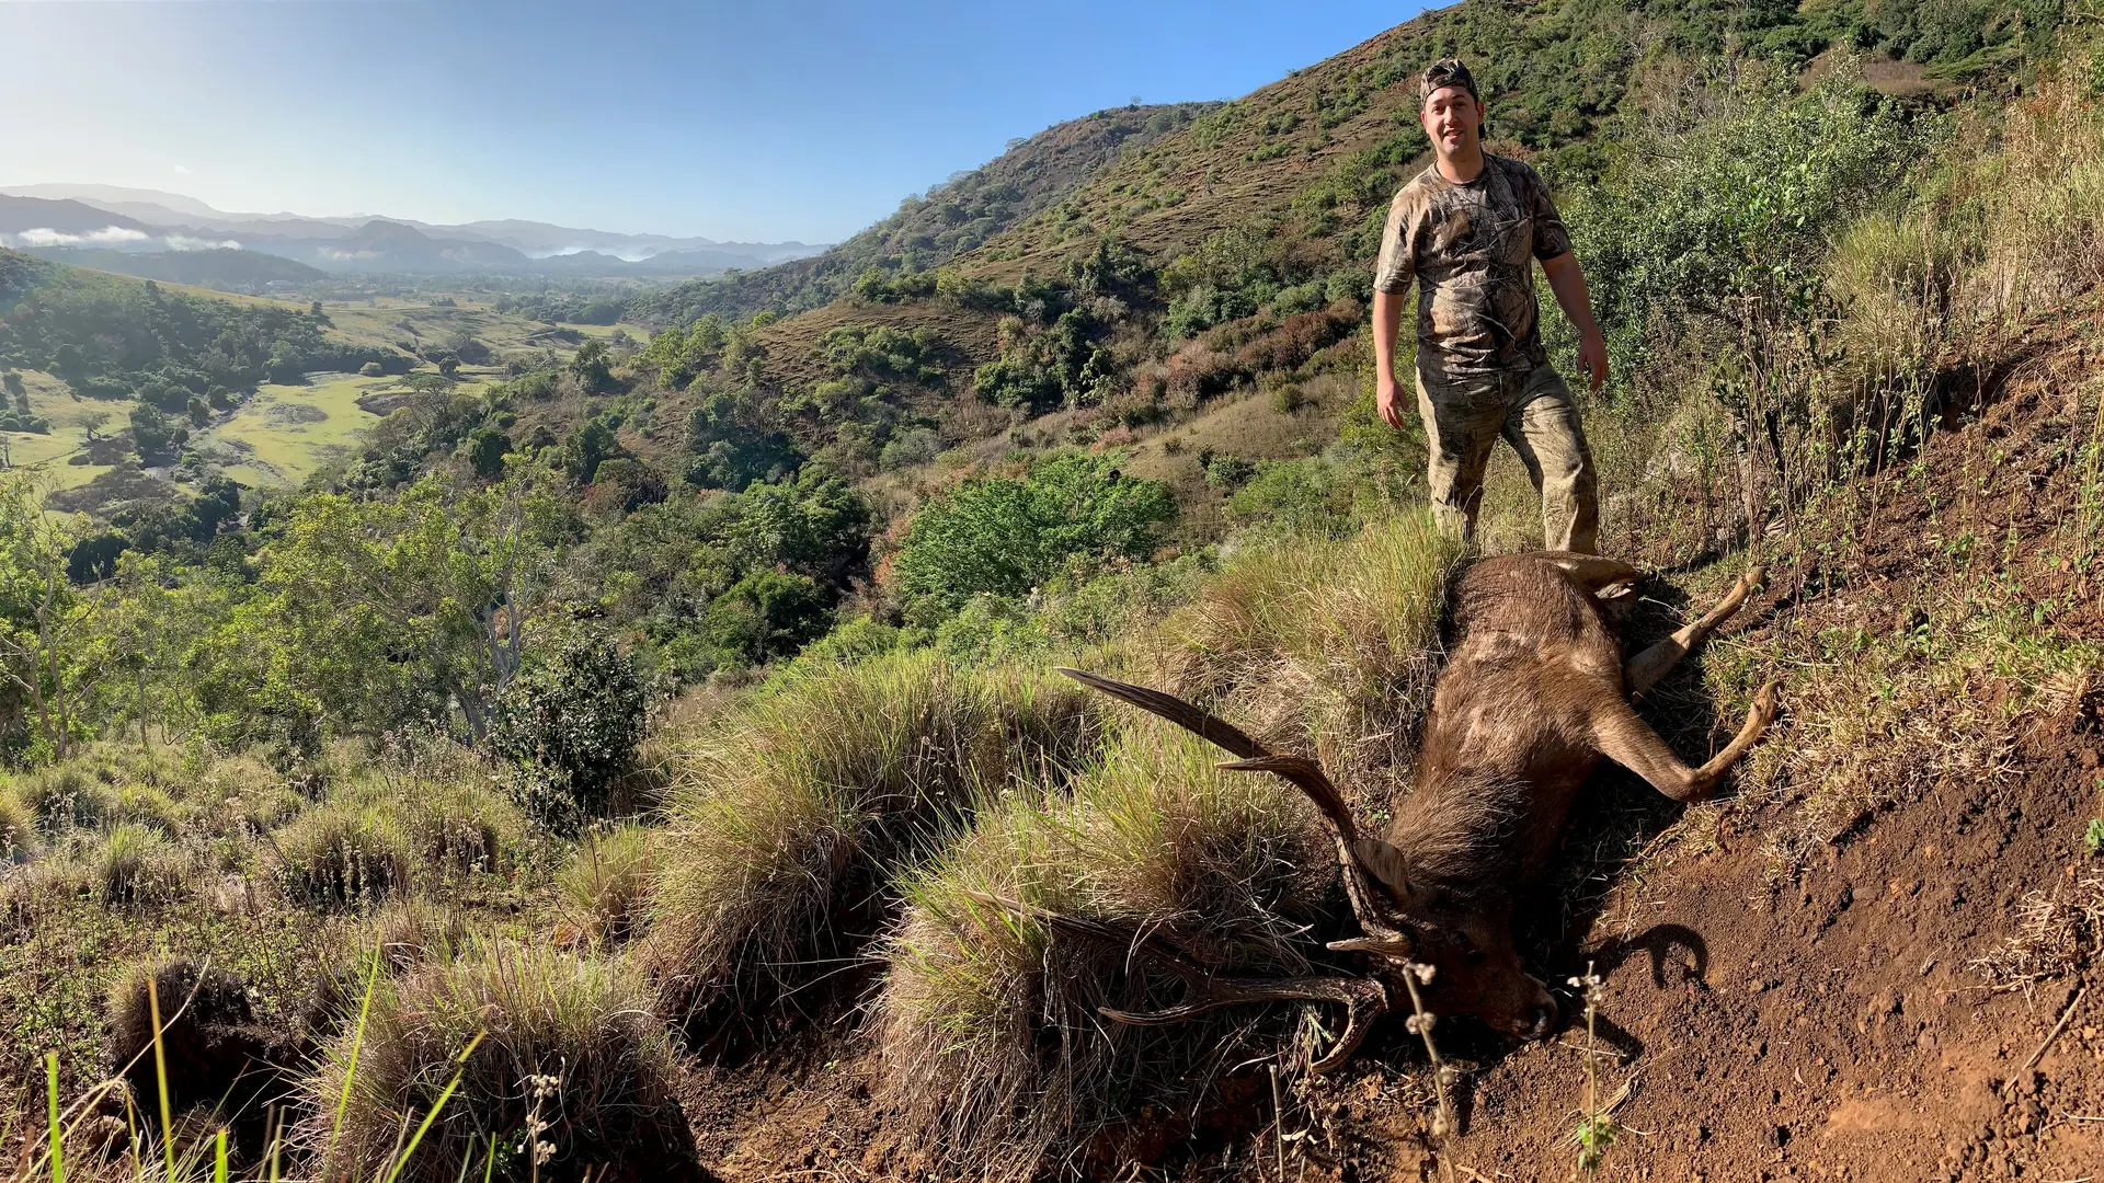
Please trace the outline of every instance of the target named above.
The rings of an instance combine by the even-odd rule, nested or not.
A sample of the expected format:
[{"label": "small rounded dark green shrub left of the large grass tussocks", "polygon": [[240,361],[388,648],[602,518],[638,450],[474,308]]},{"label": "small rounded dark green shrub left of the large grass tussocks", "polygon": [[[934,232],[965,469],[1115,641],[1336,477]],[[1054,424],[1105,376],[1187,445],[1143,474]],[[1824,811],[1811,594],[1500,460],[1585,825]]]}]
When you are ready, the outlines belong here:
[{"label": "small rounded dark green shrub left of the large grass tussocks", "polygon": [[574,834],[612,808],[648,705],[635,663],[612,638],[576,638],[505,688],[490,749],[513,764],[520,806],[539,825]]}]

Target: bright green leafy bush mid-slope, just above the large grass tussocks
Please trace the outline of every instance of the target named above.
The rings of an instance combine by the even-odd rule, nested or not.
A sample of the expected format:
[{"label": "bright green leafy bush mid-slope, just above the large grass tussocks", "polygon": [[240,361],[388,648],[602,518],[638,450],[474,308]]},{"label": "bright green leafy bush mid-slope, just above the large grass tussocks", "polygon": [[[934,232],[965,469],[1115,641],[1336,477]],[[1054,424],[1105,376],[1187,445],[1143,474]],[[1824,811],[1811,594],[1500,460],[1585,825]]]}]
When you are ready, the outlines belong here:
[{"label": "bright green leafy bush mid-slope, just above the large grass tussocks", "polygon": [[913,516],[892,570],[911,598],[957,608],[978,594],[1025,596],[1073,560],[1145,558],[1176,516],[1157,480],[1134,480],[1109,455],[1058,455],[1020,480],[983,478]]}]

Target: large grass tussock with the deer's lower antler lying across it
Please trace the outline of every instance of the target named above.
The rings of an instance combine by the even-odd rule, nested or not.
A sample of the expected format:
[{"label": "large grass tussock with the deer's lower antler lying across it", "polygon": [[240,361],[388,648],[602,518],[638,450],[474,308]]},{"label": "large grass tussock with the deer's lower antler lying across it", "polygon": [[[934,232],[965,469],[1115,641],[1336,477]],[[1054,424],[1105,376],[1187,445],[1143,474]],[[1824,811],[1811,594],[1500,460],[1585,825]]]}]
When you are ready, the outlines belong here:
[{"label": "large grass tussock with the deer's lower antler lying across it", "polygon": [[1153,933],[1222,973],[1309,973],[1332,859],[1307,802],[1153,724],[1075,779],[1012,794],[905,878],[879,1002],[886,1101],[957,1175],[1027,1179],[1149,1105],[1187,1111],[1235,1063],[1290,1046],[1286,1008],[1170,1027],[1096,1006],[1176,1002],[1128,947],[1052,933],[995,895]]}]

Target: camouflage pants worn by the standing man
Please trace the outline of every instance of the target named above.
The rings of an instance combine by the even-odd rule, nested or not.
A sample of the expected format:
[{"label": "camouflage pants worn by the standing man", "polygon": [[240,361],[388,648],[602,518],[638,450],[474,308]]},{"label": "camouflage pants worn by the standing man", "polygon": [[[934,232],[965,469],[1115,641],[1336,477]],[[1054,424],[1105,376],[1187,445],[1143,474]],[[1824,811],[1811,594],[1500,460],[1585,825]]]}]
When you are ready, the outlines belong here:
[{"label": "camouflage pants worn by the standing man", "polygon": [[1483,505],[1483,467],[1504,436],[1542,495],[1542,547],[1599,554],[1599,493],[1578,402],[1555,366],[1492,375],[1418,368],[1433,514],[1464,539]]}]

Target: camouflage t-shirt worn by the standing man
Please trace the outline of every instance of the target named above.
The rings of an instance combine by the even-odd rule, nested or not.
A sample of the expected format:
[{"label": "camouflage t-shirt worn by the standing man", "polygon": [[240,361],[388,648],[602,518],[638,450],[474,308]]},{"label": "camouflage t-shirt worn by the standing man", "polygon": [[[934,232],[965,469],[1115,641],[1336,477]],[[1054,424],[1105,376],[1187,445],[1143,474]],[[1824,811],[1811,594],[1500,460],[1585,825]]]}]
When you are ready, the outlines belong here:
[{"label": "camouflage t-shirt worn by the standing man", "polygon": [[1464,185],[1433,164],[1395,194],[1374,286],[1418,280],[1418,364],[1469,375],[1549,360],[1534,303],[1534,259],[1572,248],[1549,185],[1519,160],[1483,154]]}]

